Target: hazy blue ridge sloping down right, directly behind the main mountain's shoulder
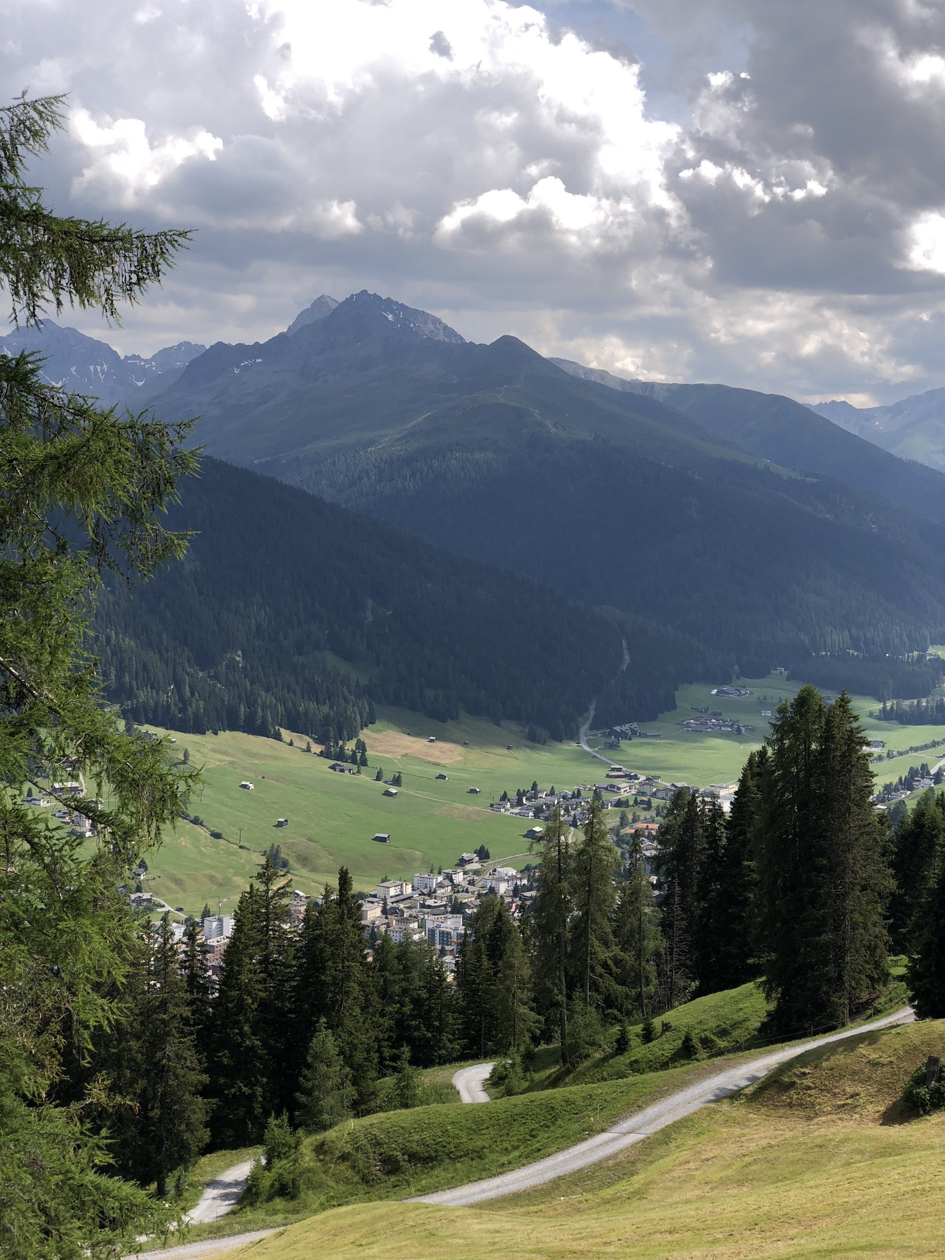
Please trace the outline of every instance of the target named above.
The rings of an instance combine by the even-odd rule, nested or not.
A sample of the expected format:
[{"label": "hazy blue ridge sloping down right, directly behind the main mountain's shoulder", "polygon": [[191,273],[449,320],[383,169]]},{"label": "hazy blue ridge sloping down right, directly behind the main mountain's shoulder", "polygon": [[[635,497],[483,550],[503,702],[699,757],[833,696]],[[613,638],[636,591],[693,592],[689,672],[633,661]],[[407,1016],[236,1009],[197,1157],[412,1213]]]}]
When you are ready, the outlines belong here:
[{"label": "hazy blue ridge sloping down right, directly behind the main mountain's shoulder", "polygon": [[[914,512],[926,513],[935,520],[945,520],[945,476],[930,471],[921,462],[912,462],[917,456],[906,450],[905,444],[902,449],[893,447],[873,432],[858,436],[858,431],[849,430],[848,425],[840,427],[833,413],[827,417],[825,412],[782,394],[716,384],[624,381],[566,359],[552,362],[611,389],[669,403],[717,437],[774,464],[798,472],[833,478],[858,490],[883,495]],[[878,447],[885,447],[885,451]],[[893,449],[896,457],[891,459],[888,452]]]}]

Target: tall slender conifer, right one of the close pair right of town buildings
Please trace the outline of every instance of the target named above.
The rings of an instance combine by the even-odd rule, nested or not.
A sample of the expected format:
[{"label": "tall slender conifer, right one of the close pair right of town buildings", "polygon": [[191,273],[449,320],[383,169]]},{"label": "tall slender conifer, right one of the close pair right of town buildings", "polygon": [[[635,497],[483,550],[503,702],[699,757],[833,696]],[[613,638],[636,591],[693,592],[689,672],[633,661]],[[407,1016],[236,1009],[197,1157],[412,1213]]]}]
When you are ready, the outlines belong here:
[{"label": "tall slender conifer, right one of the close pair right of town buildings", "polygon": [[619,1011],[624,1004],[612,916],[617,852],[610,842],[604,810],[591,803],[573,853],[575,915],[570,925],[571,966],[585,1009]]}]

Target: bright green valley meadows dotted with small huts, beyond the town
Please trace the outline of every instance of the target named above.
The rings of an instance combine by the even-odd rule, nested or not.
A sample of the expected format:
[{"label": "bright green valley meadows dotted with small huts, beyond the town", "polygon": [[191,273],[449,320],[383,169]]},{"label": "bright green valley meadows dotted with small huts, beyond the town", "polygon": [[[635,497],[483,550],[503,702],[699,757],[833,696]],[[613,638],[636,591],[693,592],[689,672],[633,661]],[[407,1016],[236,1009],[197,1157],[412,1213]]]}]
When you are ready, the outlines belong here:
[{"label": "bright green valley meadows dotted with small huts, beyond the town", "polygon": [[[774,709],[800,684],[772,675],[746,680],[746,685],[752,696],[743,699],[711,696],[709,684],[680,688],[675,712],[643,723],[645,731],[663,737],[625,742],[614,759],[627,770],[659,774],[664,782],[706,786],[736,779],[769,731],[761,709]],[[764,702],[762,696],[767,697]],[[863,714],[877,707],[864,697],[856,701]],[[750,722],[755,731],[743,736],[683,733],[679,723],[692,716],[692,706]],[[945,727],[872,721],[866,726],[871,737],[896,748],[945,737]],[[489,803],[503,790],[514,794],[533,781],[571,789],[592,785],[606,774],[602,761],[570,741],[533,745],[510,723],[496,727],[465,716],[441,723],[406,709],[379,711],[378,722],[364,731],[370,766],[360,776],[330,771],[329,762],[304,752],[305,738],[291,732],[285,732],[284,743],[241,732],[171,733],[176,748],[183,753],[186,747],[192,764],[204,767],[203,793],[190,801],[190,813],[204,827],[181,820],[151,861],[144,887],[186,914],[199,914],[204,902],[214,910],[218,903],[224,912],[232,910],[261,853],[273,842],[291,862],[294,887],[305,893],[336,879],[341,864],[350,868],[358,887],[369,888],[384,876],[410,878],[431,866],[452,866],[461,852],[480,844],[494,859],[522,866],[529,861],[524,832],[532,824],[491,814]],[[428,743],[431,736],[436,743]],[[295,747],[289,746],[290,737]],[[934,753],[883,762],[878,777],[898,777],[911,762],[922,760],[931,762]],[[384,796],[383,784],[374,781],[378,767],[386,777],[402,774],[396,798]],[[253,782],[252,793],[239,788],[243,779]],[[479,795],[469,793],[474,786]],[[277,828],[277,818],[287,818],[289,827]],[[226,839],[212,838],[210,830],[222,832]],[[389,833],[389,844],[374,842],[379,832]]]}]

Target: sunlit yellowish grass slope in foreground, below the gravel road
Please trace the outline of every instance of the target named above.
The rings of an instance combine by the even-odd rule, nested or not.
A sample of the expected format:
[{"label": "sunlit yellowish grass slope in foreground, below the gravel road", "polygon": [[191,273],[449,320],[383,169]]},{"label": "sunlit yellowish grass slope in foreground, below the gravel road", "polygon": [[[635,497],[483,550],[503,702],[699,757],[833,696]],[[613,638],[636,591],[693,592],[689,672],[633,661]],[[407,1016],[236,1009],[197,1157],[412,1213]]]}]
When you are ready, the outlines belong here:
[{"label": "sunlit yellowish grass slope in foreground, below the gravel road", "polygon": [[[914,1119],[897,1100],[912,1068],[944,1046],[942,1022],[864,1033],[810,1051],[614,1159],[525,1194],[476,1208],[353,1205],[244,1254],[381,1260],[393,1241],[412,1260],[457,1251],[472,1260],[937,1256],[945,1251],[945,1115]],[[561,1092],[536,1101],[554,1097]],[[488,1123],[500,1108],[525,1102],[469,1110]],[[450,1110],[438,1109],[441,1116]]]}]

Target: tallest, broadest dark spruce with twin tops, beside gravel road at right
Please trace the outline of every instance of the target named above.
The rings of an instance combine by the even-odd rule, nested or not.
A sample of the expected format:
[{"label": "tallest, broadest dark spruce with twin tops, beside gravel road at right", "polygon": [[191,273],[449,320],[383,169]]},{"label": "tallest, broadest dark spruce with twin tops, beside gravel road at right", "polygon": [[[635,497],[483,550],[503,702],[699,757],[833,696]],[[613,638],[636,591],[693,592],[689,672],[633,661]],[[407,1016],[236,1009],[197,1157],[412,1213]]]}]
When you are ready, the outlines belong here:
[{"label": "tallest, broadest dark spruce with twin tops, beside gravel road at right", "polygon": [[765,984],[784,1033],[835,1027],[885,985],[891,892],[864,735],[843,692],[777,709],[757,828]]}]

